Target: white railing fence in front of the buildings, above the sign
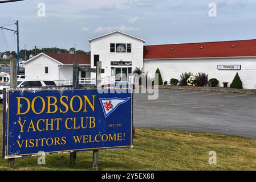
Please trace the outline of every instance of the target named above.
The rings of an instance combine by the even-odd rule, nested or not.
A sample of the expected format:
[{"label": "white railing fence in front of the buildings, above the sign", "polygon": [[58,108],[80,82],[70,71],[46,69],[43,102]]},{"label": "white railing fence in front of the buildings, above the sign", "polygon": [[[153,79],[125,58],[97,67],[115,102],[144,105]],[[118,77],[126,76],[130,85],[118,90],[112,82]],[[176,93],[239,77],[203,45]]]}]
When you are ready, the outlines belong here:
[{"label": "white railing fence in front of the buildings, above the sign", "polygon": [[[55,80],[56,85],[64,86],[64,85],[72,85],[73,80]],[[80,78],[79,84],[88,84],[88,85],[96,85],[96,78]],[[101,85],[109,85],[115,84],[115,77],[114,76],[105,76],[101,77]]]}]

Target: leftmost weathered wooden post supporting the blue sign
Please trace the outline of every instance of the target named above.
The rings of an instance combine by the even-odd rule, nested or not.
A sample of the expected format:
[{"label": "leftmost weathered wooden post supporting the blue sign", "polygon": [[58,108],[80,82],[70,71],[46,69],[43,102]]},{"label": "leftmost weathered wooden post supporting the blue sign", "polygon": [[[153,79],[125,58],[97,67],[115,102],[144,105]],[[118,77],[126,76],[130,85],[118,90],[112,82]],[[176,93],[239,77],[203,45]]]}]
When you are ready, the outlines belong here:
[{"label": "leftmost weathered wooden post supporting the blue sign", "polygon": [[[17,60],[10,61],[10,88],[17,88]],[[8,167],[14,168],[14,158],[8,159]]]}]

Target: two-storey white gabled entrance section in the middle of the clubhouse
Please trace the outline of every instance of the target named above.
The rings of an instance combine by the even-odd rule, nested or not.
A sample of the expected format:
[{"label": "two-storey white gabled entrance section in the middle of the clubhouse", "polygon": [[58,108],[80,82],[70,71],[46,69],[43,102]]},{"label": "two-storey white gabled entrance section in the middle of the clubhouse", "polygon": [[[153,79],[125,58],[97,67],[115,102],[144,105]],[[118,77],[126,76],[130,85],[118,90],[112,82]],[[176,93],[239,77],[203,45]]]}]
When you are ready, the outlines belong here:
[{"label": "two-storey white gabled entrance section in the middle of the clubhouse", "polygon": [[[136,67],[143,68],[143,39],[115,31],[92,38],[89,42],[91,68],[96,68],[97,61],[101,61],[104,76],[115,76],[116,81],[128,81]],[[96,77],[95,73],[92,77]]]}]

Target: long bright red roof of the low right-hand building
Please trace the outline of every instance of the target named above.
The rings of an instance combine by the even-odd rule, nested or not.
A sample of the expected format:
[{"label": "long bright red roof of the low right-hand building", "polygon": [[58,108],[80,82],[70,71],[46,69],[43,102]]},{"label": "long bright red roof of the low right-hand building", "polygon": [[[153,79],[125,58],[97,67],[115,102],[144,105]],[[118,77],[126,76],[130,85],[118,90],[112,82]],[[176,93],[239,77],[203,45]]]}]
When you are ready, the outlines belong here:
[{"label": "long bright red roof of the low right-hand building", "polygon": [[256,39],[144,46],[144,59],[253,56],[256,56]]}]

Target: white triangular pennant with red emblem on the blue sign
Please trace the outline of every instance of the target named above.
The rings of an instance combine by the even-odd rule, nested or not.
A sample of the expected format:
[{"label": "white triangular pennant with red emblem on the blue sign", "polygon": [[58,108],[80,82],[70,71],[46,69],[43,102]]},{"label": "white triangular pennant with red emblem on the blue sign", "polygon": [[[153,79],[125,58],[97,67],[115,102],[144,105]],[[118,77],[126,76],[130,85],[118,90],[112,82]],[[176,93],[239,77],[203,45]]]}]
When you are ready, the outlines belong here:
[{"label": "white triangular pennant with red emblem on the blue sign", "polygon": [[105,118],[108,117],[109,114],[113,113],[117,109],[118,106],[124,104],[130,99],[128,98],[100,98],[100,104],[103,109],[103,113]]}]

